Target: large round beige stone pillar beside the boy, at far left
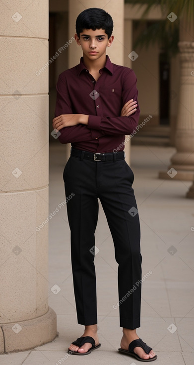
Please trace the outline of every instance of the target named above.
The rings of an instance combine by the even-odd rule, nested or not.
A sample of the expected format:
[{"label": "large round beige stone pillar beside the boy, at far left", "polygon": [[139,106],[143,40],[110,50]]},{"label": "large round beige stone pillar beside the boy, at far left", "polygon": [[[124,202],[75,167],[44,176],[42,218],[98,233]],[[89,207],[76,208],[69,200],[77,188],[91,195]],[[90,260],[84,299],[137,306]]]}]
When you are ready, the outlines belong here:
[{"label": "large round beige stone pillar beside the boy, at far left", "polygon": [[[0,1],[0,353],[57,335],[48,306],[48,0]],[[52,292],[49,291],[49,293]]]}]

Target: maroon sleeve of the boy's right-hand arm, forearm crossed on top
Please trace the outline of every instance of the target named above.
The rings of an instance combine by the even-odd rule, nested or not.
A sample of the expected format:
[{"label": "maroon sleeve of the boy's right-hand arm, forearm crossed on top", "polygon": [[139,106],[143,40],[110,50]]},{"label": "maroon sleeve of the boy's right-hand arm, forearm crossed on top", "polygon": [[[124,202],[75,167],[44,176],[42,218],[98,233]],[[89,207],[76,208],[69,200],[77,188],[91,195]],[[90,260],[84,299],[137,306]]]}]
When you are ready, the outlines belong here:
[{"label": "maroon sleeve of the boy's right-hand arm, forearm crossed on top", "polygon": [[[136,76],[133,70],[130,70],[128,74],[125,75],[125,80],[123,80],[122,88],[122,100],[123,106],[130,99],[137,101],[138,91],[136,89]],[[138,125],[139,119],[139,106],[137,102],[137,110],[127,116],[117,116],[117,117],[101,117],[96,115],[89,115],[88,119],[88,129],[100,130],[106,135],[129,135],[132,133],[133,129]]]}]

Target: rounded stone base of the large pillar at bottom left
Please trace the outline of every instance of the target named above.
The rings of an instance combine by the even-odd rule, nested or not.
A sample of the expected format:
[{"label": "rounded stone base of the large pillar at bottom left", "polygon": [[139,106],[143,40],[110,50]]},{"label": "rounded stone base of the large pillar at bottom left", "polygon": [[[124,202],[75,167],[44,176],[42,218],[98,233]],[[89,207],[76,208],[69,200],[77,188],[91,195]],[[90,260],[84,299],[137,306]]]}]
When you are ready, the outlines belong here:
[{"label": "rounded stone base of the large pillar at bottom left", "polygon": [[48,312],[41,317],[1,324],[0,339],[2,338],[3,341],[0,345],[0,354],[34,349],[53,341],[56,337],[57,315],[49,307]]}]

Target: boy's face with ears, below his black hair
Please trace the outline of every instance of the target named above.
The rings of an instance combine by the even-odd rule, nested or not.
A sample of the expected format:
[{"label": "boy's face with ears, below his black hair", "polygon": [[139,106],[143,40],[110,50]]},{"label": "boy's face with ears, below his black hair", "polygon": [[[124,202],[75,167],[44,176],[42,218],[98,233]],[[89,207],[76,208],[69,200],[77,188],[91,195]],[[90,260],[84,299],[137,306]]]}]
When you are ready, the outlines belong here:
[{"label": "boy's face with ears, below his black hair", "polygon": [[113,42],[113,35],[108,39],[104,29],[83,29],[83,32],[75,34],[75,40],[81,46],[83,55],[90,60],[97,60],[106,53],[106,48]]}]

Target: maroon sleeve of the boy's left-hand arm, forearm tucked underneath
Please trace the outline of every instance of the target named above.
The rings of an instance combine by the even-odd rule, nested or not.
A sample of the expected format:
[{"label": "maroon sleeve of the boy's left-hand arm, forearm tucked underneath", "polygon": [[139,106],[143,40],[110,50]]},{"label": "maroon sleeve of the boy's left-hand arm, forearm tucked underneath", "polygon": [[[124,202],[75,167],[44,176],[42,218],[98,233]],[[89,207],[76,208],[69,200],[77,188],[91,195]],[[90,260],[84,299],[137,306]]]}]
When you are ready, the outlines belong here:
[{"label": "maroon sleeve of the boy's left-hand arm, forearm tucked underneath", "polygon": [[[57,100],[55,108],[55,117],[61,114],[73,114],[71,100],[68,94],[67,83],[64,82],[59,76],[57,89]],[[89,129],[87,125],[77,124],[72,127],[64,127],[60,129],[60,135],[58,137],[61,143],[74,143],[91,141],[101,137],[103,134],[100,130],[95,128]]]}]

